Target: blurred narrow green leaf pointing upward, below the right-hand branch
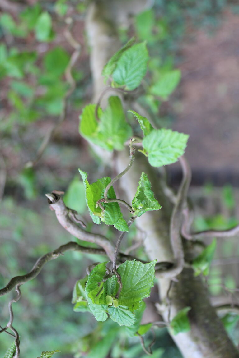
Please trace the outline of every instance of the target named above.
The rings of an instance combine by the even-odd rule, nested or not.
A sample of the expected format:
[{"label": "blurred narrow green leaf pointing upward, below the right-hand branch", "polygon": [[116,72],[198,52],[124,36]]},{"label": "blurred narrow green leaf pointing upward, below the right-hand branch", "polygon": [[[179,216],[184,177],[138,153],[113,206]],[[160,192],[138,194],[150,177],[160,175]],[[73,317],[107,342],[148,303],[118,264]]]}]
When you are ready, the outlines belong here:
[{"label": "blurred narrow green leaf pointing upward, below the right-hand branch", "polygon": [[195,276],[201,273],[205,276],[209,274],[210,264],[214,257],[216,250],[216,239],[213,239],[210,245],[208,245],[199,256],[193,260],[192,267],[195,270]]}]

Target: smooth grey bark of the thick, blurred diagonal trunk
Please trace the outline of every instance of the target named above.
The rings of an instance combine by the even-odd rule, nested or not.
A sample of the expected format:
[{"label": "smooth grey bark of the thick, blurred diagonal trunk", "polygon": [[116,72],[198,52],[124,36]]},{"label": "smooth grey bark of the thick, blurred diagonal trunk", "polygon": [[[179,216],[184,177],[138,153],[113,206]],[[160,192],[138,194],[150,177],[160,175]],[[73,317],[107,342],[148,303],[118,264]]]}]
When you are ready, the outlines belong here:
[{"label": "smooth grey bark of the thick, blurred diagonal trunk", "polygon": [[[92,2],[88,9],[86,29],[91,45],[91,71],[94,84],[94,99],[97,100],[105,87],[101,76],[102,68],[111,55],[119,49],[117,25],[130,14],[135,14],[148,6],[147,1],[101,0]],[[98,155],[100,151],[97,150]],[[104,158],[104,154],[102,153]],[[129,151],[119,153],[116,170],[120,173],[129,164]],[[169,239],[169,223],[172,207],[168,198],[163,196],[158,175],[143,155],[137,155],[132,169],[121,179],[125,199],[131,202],[142,171],[145,171],[152,183],[154,193],[162,205],[157,212],[145,213],[137,218],[137,226],[147,232],[144,240],[145,251],[150,260],[173,261]],[[191,254],[185,251],[185,255]],[[170,280],[157,275],[161,297],[162,315],[167,321],[168,308],[166,296]],[[190,306],[189,318],[191,330],[172,336],[185,358],[239,358],[225,329],[211,306],[208,292],[200,277],[193,276],[193,270],[185,268],[177,276],[178,282],[170,290],[171,318],[178,310]]]}]

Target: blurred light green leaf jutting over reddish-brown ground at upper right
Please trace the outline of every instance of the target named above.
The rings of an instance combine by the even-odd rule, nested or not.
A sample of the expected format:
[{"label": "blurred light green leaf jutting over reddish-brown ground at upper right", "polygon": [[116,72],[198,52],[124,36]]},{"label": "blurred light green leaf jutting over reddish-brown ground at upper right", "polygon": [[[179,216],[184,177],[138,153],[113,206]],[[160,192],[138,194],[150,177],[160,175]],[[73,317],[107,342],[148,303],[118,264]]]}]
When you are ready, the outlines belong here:
[{"label": "blurred light green leaf jutting over reddish-brown ground at upper right", "polygon": [[150,93],[167,100],[177,87],[180,79],[181,71],[179,69],[163,72],[157,82],[150,88]]}]

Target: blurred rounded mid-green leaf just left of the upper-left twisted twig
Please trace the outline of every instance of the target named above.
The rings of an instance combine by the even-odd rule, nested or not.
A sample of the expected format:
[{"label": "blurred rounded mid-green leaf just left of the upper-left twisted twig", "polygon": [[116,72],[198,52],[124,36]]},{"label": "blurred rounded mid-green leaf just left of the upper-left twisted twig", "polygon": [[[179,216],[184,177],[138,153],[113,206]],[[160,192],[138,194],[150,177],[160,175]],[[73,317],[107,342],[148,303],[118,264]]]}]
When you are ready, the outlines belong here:
[{"label": "blurred rounded mid-green leaf just left of the upper-left twisted twig", "polygon": [[60,77],[64,73],[70,60],[69,54],[62,47],[55,47],[43,57],[43,66],[54,77]]}]

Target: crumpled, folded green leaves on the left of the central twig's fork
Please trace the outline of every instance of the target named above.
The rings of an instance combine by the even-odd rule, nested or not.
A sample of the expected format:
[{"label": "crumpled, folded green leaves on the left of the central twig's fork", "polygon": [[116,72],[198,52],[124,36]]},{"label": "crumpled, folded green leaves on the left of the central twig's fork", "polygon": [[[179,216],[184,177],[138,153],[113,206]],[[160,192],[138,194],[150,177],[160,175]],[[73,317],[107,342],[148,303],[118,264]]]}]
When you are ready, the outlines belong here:
[{"label": "crumpled, folded green leaves on the left of the central twig's fork", "polygon": [[[87,181],[87,174],[79,169],[82,176],[83,183],[85,185],[86,203],[89,208],[92,220],[96,223],[100,223],[100,219],[105,222],[106,225],[114,225],[116,229],[120,231],[129,231],[128,225],[123,218],[118,203],[106,203],[105,210],[102,212],[100,207],[96,208],[96,203],[99,199],[104,197],[104,191],[107,185],[111,182],[109,176],[97,179],[95,183],[89,184]],[[113,187],[110,187],[108,191],[108,198],[115,199],[115,191]]]}]

